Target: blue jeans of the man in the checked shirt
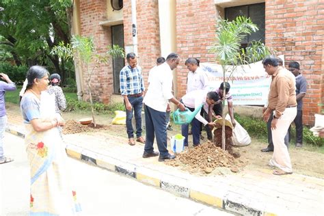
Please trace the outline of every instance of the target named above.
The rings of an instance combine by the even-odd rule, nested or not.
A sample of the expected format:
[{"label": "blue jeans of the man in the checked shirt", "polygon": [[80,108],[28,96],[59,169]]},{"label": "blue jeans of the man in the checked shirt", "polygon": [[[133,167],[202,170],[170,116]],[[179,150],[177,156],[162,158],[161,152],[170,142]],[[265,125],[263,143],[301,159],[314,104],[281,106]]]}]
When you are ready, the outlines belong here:
[{"label": "blue jeans of the man in the checked shirt", "polygon": [[141,137],[141,108],[143,107],[143,96],[132,97],[129,96],[129,103],[132,105],[132,110],[126,109],[126,128],[129,139],[134,137],[134,130],[132,125],[133,111],[136,122],[136,137]]}]

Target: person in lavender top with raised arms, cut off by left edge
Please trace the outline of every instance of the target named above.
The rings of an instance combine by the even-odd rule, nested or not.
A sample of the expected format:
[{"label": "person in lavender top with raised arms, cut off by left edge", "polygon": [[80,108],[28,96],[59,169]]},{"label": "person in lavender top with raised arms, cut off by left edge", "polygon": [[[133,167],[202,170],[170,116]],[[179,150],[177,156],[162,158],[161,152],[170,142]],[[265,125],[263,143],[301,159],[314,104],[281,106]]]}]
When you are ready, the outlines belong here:
[{"label": "person in lavender top with raised arms, cut off by left edge", "polygon": [[5,133],[5,126],[7,126],[7,113],[5,111],[5,92],[6,91],[14,91],[16,90],[16,85],[12,82],[8,75],[4,73],[0,73],[1,79],[4,81],[0,81],[0,164],[8,163],[14,161],[14,159],[10,157],[5,157],[3,152],[3,137]]}]

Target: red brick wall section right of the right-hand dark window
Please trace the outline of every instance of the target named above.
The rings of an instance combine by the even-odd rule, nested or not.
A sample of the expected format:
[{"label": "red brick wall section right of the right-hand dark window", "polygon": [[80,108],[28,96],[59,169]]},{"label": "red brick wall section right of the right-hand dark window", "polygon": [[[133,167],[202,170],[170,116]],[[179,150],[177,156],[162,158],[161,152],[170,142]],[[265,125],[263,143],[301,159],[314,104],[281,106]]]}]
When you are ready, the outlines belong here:
[{"label": "red brick wall section right of the right-hand dark window", "polygon": [[297,61],[308,81],[303,98],[303,123],[313,124],[323,103],[324,1],[265,1],[267,46],[285,55],[285,63]]}]

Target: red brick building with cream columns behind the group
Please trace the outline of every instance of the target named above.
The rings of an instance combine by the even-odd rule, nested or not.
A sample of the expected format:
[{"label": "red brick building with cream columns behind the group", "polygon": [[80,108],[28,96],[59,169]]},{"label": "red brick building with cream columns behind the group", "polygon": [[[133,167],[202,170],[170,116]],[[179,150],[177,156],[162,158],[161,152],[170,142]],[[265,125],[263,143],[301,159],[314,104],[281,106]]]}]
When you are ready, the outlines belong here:
[{"label": "red brick building with cream columns behind the group", "polygon": [[[113,3],[113,7],[111,5]],[[314,113],[324,103],[324,1],[321,0],[76,0],[73,31],[93,36],[96,51],[120,44],[125,51],[135,51],[147,81],[148,71],[159,56],[176,52],[182,57],[174,73],[176,96],[185,94],[187,57],[214,62],[208,53],[215,42],[217,16],[232,19],[249,16],[260,29],[246,38],[262,40],[285,61],[297,61],[308,80],[303,99],[303,122],[313,124]],[[135,27],[133,24],[135,23]],[[135,31],[134,31],[135,30]],[[135,33],[135,34],[134,34]],[[94,97],[109,103],[119,94],[119,72],[124,59],[111,60],[94,72]],[[86,97],[85,75],[77,68],[79,93]]]}]

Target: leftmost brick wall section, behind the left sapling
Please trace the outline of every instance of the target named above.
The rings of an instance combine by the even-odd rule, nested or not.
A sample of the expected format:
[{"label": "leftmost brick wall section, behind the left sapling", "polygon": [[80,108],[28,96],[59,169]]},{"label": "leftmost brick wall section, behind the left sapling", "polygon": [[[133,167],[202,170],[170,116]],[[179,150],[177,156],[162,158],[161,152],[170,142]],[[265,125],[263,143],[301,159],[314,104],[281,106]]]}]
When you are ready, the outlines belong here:
[{"label": "leftmost brick wall section, behind the left sapling", "polygon": [[[92,36],[96,46],[96,53],[103,54],[107,46],[111,44],[110,27],[102,27],[100,21],[105,21],[106,5],[105,0],[80,1],[81,36]],[[90,70],[94,67],[91,64]],[[83,69],[83,83],[85,86],[84,98],[88,99],[87,72]],[[109,103],[113,92],[113,72],[111,64],[100,64],[92,74],[92,94],[94,100]]]}]

